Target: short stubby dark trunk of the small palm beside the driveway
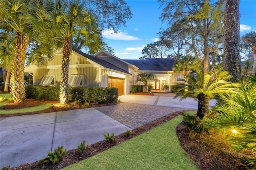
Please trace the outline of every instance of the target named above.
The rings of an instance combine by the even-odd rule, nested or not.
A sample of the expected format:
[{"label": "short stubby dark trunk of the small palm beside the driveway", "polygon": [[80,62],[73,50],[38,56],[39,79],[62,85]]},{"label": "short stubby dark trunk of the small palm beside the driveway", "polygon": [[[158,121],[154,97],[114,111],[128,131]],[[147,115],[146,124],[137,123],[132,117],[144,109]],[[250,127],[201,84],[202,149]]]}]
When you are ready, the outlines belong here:
[{"label": "short stubby dark trunk of the small palm beside the driveway", "polygon": [[197,95],[197,99],[198,111],[196,116],[202,119],[204,115],[208,114],[210,97],[208,95],[205,95],[204,93],[200,93],[199,95]]}]

